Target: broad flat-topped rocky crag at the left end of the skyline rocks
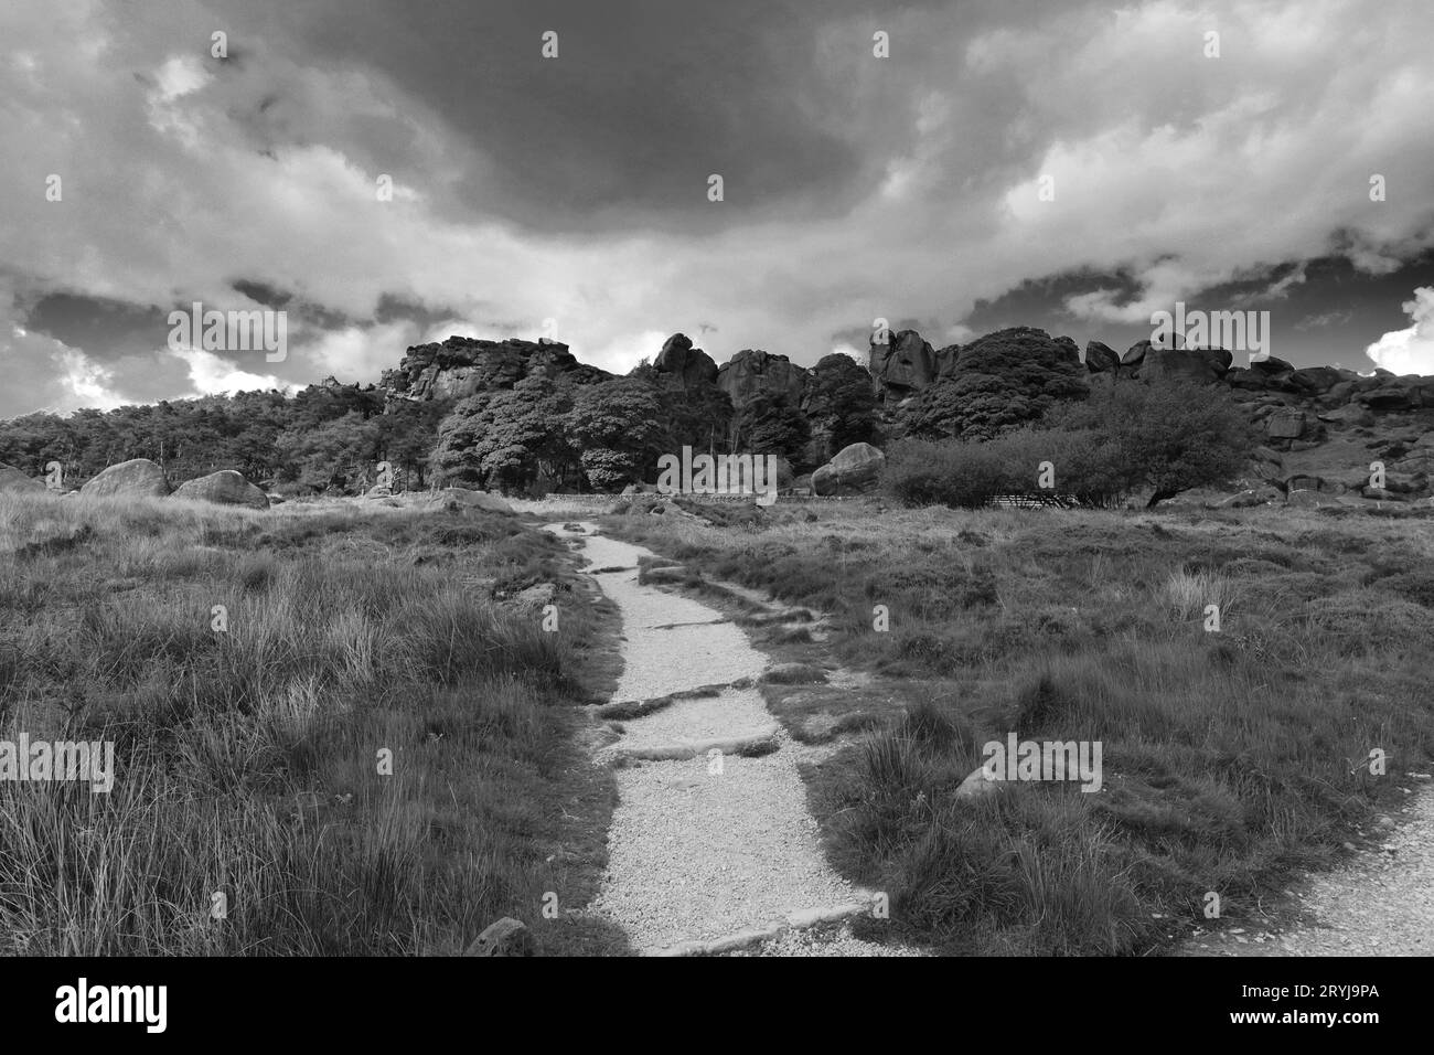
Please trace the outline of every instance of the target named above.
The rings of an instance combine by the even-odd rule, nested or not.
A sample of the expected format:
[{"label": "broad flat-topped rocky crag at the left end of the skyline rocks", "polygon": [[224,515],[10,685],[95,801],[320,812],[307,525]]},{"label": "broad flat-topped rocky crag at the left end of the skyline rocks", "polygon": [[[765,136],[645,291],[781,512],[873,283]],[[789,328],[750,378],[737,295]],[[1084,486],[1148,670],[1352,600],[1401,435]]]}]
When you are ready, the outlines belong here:
[{"label": "broad flat-topped rocky crag at the left end of the skyline rocks", "polygon": [[607,370],[579,363],[566,344],[555,340],[449,337],[442,344],[410,347],[396,369],[383,372],[379,383],[389,399],[463,399],[511,389],[536,373],[576,385],[612,378]]}]

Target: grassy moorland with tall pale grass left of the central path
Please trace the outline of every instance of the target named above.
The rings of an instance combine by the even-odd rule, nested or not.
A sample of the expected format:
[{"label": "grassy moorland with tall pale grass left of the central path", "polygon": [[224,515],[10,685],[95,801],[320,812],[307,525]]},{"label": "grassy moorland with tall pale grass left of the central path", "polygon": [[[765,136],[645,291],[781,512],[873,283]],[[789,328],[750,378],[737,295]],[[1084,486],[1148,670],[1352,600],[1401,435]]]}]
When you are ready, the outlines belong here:
[{"label": "grassy moorland with tall pale grass left of the central path", "polygon": [[[621,952],[566,914],[614,801],[575,735],[611,613],[566,567],[476,511],[0,495],[0,739],[118,755],[110,794],[0,782],[0,952],[456,953],[505,914]],[[493,600],[538,581],[558,633]]]}]

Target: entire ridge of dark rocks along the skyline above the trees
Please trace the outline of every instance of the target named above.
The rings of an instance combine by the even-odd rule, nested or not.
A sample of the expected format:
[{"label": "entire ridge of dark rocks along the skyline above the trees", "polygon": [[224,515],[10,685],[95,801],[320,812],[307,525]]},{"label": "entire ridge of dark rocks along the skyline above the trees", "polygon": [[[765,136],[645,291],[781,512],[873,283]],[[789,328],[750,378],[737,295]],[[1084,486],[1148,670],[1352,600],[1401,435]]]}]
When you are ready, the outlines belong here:
[{"label": "entire ridge of dark rocks along the skyline above the trees", "polygon": [[[390,400],[462,398],[512,388],[535,375],[575,383],[612,376],[578,363],[565,344],[555,342],[450,337],[442,344],[410,347],[400,366],[384,373],[384,386]],[[1020,421],[1034,421],[1054,400],[1080,399],[1096,385],[1196,382],[1223,385],[1243,406],[1265,444],[1269,458],[1256,458],[1238,481],[1232,481],[1232,489],[1242,492],[1242,502],[1268,501],[1265,488],[1269,487],[1279,487],[1281,494],[1319,491],[1279,484],[1286,475],[1279,464],[1282,455],[1293,459],[1291,469],[1314,469],[1318,471],[1314,475],[1335,481],[1341,489],[1331,494],[1358,501],[1357,495],[1372,485],[1368,481],[1344,482],[1345,475],[1364,471],[1359,461],[1365,454],[1351,452],[1351,444],[1368,446],[1368,459],[1380,458],[1391,472],[1400,474],[1392,477],[1398,487],[1372,488],[1381,494],[1418,498],[1428,494],[1427,481],[1434,477],[1434,441],[1414,449],[1423,435],[1434,432],[1434,378],[1401,378],[1388,370],[1361,376],[1334,366],[1296,367],[1275,356],[1236,366],[1232,353],[1223,349],[1173,349],[1141,340],[1117,353],[1091,340],[1081,356],[1071,339],[1053,337],[1032,327],[1011,327],[964,346],[934,349],[921,333],[908,329],[891,334],[883,344],[872,344],[869,366],[849,356],[827,356],[813,367],[803,367],[786,355],[760,349],[741,350],[718,366],[694,347],[690,337],[674,333],[663,343],[651,369],[638,376],[667,389],[664,405],[681,411],[680,405],[685,403],[691,421],[685,421],[684,428],[695,421],[697,428],[690,431],[718,438],[724,425],[704,429],[703,423],[708,418],[716,421],[718,408],[730,413],[726,411],[728,400],[741,409],[759,396],[783,399],[804,418],[809,431],[806,445],[794,452],[803,469],[852,441],[883,442],[883,438],[899,436],[912,422],[936,435],[955,425],[961,435],[981,438]],[[959,379],[961,386],[941,386],[951,379]],[[918,399],[932,386],[941,388]],[[853,392],[859,398],[853,398]],[[959,413],[952,408],[959,408]],[[1012,418],[1008,408],[1018,409],[1020,415]],[[853,419],[869,421],[872,428],[839,428]],[[1402,439],[1385,446],[1374,442],[1391,436]],[[1325,448],[1326,444],[1331,446]],[[855,446],[876,451],[865,444]],[[870,481],[863,479],[862,466],[839,464],[846,449],[812,474],[813,492],[853,494],[868,488]],[[866,464],[873,461],[865,459]],[[865,472],[875,478],[875,469]],[[1245,495],[1246,491],[1250,494]],[[1296,500],[1296,504],[1299,501],[1309,500]]]}]

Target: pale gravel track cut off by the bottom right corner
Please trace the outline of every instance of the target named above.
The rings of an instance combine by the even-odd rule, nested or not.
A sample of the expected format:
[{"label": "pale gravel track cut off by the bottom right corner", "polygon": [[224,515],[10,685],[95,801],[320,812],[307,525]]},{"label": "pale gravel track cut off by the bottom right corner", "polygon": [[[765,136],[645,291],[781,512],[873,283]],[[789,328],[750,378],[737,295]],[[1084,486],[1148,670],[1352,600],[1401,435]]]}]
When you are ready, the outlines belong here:
[{"label": "pale gravel track cut off by the bottom right corner", "polygon": [[1434,953],[1434,791],[1411,795],[1380,850],[1295,893],[1312,922],[1285,933],[1222,932],[1186,956],[1430,956]]}]

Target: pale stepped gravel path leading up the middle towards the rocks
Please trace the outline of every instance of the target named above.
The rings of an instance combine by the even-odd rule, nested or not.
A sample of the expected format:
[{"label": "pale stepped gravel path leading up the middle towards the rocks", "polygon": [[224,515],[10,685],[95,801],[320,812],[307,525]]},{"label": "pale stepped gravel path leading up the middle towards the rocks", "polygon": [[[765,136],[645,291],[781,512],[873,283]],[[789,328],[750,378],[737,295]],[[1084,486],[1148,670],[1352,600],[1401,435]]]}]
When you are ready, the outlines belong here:
[{"label": "pale stepped gravel path leading up the middle towards the rocks", "polygon": [[[591,524],[582,527],[594,530]],[[576,534],[559,525],[546,530]],[[618,540],[581,537],[589,568],[635,568],[640,557],[652,555]],[[614,700],[756,677],[767,666],[766,656],[714,609],[655,586],[640,586],[634,570],[592,574],[622,614],[624,670]],[[724,937],[796,911],[869,897],[826,864],[797,772],[800,752],[792,749],[756,689],[677,700],[621,725],[619,746],[771,729],[777,729],[780,745],[760,758],[726,755],[720,772],[713,772],[706,756],[615,771],[619,804],[608,835],[608,873],[592,910],[614,919],[635,949],[655,952],[680,942]],[[839,927],[825,939],[797,939],[789,932],[767,942],[761,952],[872,956],[905,950],[860,942]]]}]

